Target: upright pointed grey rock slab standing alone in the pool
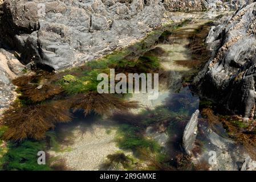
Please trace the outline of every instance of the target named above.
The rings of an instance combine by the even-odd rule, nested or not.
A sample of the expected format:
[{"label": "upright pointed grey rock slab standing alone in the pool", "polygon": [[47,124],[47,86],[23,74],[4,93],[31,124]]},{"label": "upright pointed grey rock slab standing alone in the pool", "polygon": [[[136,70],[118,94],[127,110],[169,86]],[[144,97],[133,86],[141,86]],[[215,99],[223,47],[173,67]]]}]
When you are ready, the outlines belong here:
[{"label": "upright pointed grey rock slab standing alone in the pool", "polygon": [[[197,137],[197,123],[198,123],[199,110],[196,110],[190,118],[188,124],[185,127],[185,131],[182,138],[182,146],[187,154],[191,154],[191,150],[194,147],[194,141]],[[195,134],[196,133],[196,134]]]}]

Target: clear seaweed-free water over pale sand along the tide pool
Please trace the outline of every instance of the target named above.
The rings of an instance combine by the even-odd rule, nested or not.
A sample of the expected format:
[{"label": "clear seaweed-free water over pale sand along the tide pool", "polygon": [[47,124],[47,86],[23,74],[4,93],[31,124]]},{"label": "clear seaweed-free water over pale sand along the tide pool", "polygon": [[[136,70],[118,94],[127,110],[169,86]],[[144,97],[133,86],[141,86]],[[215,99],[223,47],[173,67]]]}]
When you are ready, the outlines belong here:
[{"label": "clear seaweed-free water over pale sand along the tide pool", "polygon": [[[164,51],[159,55],[161,67],[168,72],[168,79],[160,85],[159,97],[156,100],[148,100],[148,94],[133,94],[128,100],[139,101],[143,106],[140,109],[132,110],[133,113],[139,114],[145,108],[154,110],[157,107],[163,107],[177,113],[177,117],[183,122],[169,123],[171,134],[167,131],[159,133],[147,129],[147,136],[155,139],[165,148],[165,154],[170,158],[175,158],[177,154],[184,152],[182,150],[182,133],[190,116],[198,109],[199,98],[194,95],[189,86],[182,85],[182,77],[191,68],[177,65],[177,61],[192,61],[191,52],[188,48],[190,42],[186,32],[194,31],[198,26],[204,24],[206,20],[188,24],[176,34],[170,34],[153,49]],[[160,80],[161,82],[161,80]],[[178,118],[179,119],[179,118]],[[53,156],[59,156],[66,160],[67,167],[76,170],[97,170],[104,163],[106,156],[115,154],[121,149],[115,142],[117,126],[113,121],[105,118],[99,118],[95,115],[84,117],[82,111],[75,114],[74,121],[68,124],[62,124],[56,127],[56,135],[61,138],[63,135],[63,145],[70,150],[62,152],[49,151]],[[199,136],[200,137],[200,136]],[[201,138],[204,140],[204,138]],[[125,154],[132,154],[131,151],[124,151]]]}]

